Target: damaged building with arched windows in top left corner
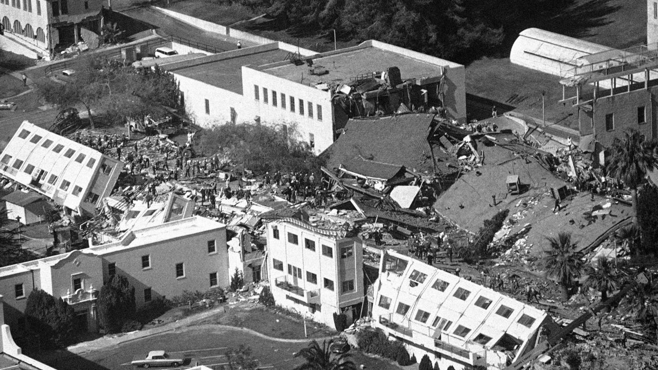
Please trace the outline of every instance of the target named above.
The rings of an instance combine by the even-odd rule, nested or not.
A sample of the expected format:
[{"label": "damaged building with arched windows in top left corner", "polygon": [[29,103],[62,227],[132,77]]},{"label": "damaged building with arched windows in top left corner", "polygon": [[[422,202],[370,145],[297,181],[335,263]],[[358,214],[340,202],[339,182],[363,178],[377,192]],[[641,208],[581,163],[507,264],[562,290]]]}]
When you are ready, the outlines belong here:
[{"label": "damaged building with arched windows in top left corner", "polygon": [[[103,0],[0,0],[0,47],[49,59],[53,48],[99,38]],[[86,39],[86,40],[83,40]]]}]

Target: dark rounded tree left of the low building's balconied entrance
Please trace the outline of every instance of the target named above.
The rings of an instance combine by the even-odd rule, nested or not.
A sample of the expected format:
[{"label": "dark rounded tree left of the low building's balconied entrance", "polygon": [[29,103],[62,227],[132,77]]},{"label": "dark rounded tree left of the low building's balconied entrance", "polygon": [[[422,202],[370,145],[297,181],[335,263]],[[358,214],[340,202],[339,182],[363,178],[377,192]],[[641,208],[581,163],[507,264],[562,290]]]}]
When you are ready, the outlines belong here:
[{"label": "dark rounded tree left of the low building's balconied entrance", "polygon": [[77,332],[73,307],[40,289],[30,292],[25,307],[28,332],[47,348],[59,347],[73,340]]}]

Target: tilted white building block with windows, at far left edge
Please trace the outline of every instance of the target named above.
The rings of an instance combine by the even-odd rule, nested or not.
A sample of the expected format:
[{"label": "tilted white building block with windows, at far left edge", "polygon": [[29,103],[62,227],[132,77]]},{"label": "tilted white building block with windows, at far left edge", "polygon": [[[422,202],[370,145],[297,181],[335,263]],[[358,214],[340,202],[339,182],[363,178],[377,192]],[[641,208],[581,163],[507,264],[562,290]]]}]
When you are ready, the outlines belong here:
[{"label": "tilted white building block with windows, at far left edge", "polygon": [[123,163],[28,121],[0,154],[0,174],[76,213],[95,214]]}]

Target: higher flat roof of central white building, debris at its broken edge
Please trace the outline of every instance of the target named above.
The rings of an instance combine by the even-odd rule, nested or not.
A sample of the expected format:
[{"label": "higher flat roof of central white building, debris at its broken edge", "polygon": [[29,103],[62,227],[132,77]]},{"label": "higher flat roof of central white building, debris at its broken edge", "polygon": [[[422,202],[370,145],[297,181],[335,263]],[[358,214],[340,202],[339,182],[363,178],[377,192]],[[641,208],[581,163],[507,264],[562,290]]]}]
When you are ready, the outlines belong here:
[{"label": "higher flat roof of central white building, debris at its broken edge", "polygon": [[[302,58],[305,60],[306,58]],[[448,66],[450,62],[445,61]],[[378,47],[364,47],[362,49],[345,50],[343,53],[327,55],[326,57],[313,57],[313,66],[323,66],[328,74],[315,76],[309,74],[309,67],[304,64],[295,66],[292,63],[282,66],[265,67],[264,72],[273,74],[286,80],[314,86],[321,82],[348,84],[359,74],[382,72],[389,67],[397,66],[400,69],[402,80],[409,78],[436,77],[442,75],[442,66],[426,61],[420,61],[406,55],[380,49]]]}]

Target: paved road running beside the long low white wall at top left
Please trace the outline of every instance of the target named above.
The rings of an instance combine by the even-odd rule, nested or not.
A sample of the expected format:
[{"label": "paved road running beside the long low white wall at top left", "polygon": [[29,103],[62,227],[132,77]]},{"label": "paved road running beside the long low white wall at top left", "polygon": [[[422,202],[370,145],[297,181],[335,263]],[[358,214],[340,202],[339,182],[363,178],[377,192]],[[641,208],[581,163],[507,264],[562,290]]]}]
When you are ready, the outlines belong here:
[{"label": "paved road running beside the long low white wall at top left", "polygon": [[[135,8],[123,11],[122,13],[151,24],[153,28],[157,28],[157,33],[161,36],[178,36],[180,38],[206,43],[224,51],[238,49],[236,46],[238,40],[236,39],[191,26],[152,7]],[[243,46],[251,46],[251,43],[245,43],[245,41],[241,41],[241,43]]]}]

